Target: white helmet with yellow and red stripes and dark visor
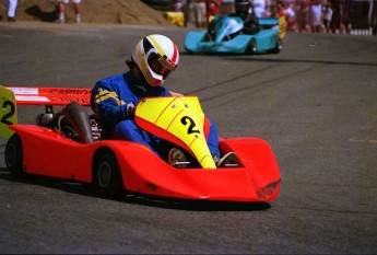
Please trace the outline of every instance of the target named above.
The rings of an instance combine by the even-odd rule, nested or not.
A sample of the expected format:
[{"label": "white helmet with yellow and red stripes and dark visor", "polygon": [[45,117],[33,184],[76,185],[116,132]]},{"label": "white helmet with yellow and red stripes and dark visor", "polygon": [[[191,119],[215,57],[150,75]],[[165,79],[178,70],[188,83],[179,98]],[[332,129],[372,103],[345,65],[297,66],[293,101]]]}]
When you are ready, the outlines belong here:
[{"label": "white helmet with yellow and red stripes and dark visor", "polygon": [[132,60],[138,65],[150,85],[161,85],[179,62],[179,53],[175,43],[164,35],[149,35],[142,38],[132,53]]}]

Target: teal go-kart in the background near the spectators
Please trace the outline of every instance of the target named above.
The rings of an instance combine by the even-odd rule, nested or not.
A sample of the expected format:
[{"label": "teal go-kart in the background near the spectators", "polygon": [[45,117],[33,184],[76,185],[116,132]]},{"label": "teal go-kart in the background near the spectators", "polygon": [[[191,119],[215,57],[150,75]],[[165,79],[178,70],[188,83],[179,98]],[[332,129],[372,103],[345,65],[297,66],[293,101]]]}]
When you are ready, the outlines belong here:
[{"label": "teal go-kart in the background near the spectators", "polygon": [[259,18],[258,32],[243,33],[244,22],[238,16],[215,16],[211,36],[208,30],[190,31],[186,35],[185,49],[188,53],[257,54],[274,53],[282,49],[279,19]]}]

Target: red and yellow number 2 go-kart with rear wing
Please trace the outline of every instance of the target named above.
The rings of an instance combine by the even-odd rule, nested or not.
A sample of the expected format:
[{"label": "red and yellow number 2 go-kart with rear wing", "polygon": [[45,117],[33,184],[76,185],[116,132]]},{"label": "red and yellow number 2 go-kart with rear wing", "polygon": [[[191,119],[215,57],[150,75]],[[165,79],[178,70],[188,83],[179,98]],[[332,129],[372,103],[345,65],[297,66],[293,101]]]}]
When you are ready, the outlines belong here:
[{"label": "red and yellow number 2 go-kart with rear wing", "polygon": [[[5,164],[15,177],[51,176],[90,183],[101,195],[119,192],[168,198],[270,201],[280,193],[280,170],[259,138],[220,138],[223,154],[239,164],[216,167],[205,142],[205,116],[197,96],[145,97],[137,124],[190,153],[197,162],[175,167],[148,147],[111,140],[90,113],[91,90],[0,86],[0,135]],[[17,124],[16,105],[44,105],[36,124]],[[61,106],[55,111],[54,106]]]}]

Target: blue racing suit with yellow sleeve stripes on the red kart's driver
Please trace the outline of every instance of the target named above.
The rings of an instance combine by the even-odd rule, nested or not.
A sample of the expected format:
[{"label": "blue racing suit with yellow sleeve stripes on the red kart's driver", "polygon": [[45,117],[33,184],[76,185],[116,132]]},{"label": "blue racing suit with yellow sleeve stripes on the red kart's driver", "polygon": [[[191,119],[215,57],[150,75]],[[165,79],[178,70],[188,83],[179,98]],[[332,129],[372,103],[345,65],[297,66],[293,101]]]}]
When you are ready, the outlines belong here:
[{"label": "blue racing suit with yellow sleeve stripes on the red kart's driver", "polygon": [[[142,93],[140,89],[142,88]],[[136,106],[145,96],[169,96],[170,92],[163,86],[140,85],[131,71],[99,80],[92,90],[91,106],[99,114],[103,126],[110,132],[110,138],[142,143],[161,158],[165,158],[160,138],[139,128],[133,115],[128,114],[128,107]],[[215,123],[210,120],[210,131],[207,138],[213,155],[220,157],[219,135]]]}]

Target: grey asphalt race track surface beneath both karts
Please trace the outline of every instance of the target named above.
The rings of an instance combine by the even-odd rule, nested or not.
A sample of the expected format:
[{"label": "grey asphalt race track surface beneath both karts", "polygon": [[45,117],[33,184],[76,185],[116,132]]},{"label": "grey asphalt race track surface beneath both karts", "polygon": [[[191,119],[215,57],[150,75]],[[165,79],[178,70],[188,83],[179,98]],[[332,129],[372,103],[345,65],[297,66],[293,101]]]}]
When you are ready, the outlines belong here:
[{"label": "grey asphalt race track surface beneath both karts", "polygon": [[[1,23],[0,83],[92,88],[123,72],[150,33],[181,50],[168,89],[197,94],[222,136],[271,144],[280,197],[103,199],[75,183],[14,181],[0,140],[0,253],[377,253],[377,37],[288,34],[279,55],[198,56],[184,50],[186,28]],[[20,107],[20,123],[42,111]]]}]

